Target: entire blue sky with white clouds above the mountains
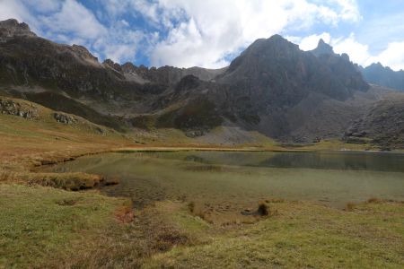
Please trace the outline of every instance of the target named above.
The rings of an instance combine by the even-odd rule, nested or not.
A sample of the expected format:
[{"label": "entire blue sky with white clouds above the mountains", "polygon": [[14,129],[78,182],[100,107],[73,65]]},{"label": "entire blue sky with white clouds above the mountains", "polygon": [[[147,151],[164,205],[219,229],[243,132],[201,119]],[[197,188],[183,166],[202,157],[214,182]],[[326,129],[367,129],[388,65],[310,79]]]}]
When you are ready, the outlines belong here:
[{"label": "entire blue sky with white clouds above the mountains", "polygon": [[0,0],[0,20],[120,64],[220,68],[256,39],[324,39],[359,65],[404,69],[404,0]]}]

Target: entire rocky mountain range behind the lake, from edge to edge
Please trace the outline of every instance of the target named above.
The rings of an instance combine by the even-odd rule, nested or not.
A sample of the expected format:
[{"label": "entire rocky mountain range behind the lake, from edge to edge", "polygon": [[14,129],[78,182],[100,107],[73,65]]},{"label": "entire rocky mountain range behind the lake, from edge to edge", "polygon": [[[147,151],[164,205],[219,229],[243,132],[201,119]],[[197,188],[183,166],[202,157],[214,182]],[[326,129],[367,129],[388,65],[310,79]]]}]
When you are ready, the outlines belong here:
[{"label": "entire rocky mountain range behind the lake, from edge to edge", "polygon": [[206,143],[248,143],[259,132],[283,143],[404,147],[404,93],[369,85],[367,68],[322,40],[305,52],[279,35],[217,70],[100,63],[82,46],[0,22],[0,94],[121,132],[175,128]]}]

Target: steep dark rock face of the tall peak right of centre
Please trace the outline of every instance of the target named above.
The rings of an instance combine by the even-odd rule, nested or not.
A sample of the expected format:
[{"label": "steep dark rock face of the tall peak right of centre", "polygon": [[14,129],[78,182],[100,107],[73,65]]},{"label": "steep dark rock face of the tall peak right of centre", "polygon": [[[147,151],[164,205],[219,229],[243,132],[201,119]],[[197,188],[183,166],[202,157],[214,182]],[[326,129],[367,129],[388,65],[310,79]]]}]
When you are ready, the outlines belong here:
[{"label": "steep dark rock face of the tall peak right of centre", "polygon": [[[350,119],[342,108],[338,120],[334,119],[338,124],[313,128],[315,132],[310,132],[308,126],[322,125],[328,120],[317,122],[323,116],[295,112],[336,105],[354,98],[356,91],[369,89],[347,56],[331,54],[332,48],[321,46],[324,47],[320,43],[316,51],[325,52],[315,56],[278,35],[255,41],[216,78],[228,85],[227,91],[218,93],[224,114],[246,128],[258,129],[285,142],[311,142],[315,135],[324,138],[340,134],[347,127],[340,123]],[[297,124],[295,117],[300,118]]]}]

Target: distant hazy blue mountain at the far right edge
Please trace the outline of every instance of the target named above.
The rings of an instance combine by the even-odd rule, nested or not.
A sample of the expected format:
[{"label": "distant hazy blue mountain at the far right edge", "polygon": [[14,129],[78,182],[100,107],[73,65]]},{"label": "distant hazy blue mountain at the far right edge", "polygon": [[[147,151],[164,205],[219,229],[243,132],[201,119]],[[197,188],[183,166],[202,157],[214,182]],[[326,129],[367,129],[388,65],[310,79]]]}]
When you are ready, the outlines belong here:
[{"label": "distant hazy blue mountain at the far right edge", "polygon": [[381,63],[360,68],[366,82],[404,91],[404,71],[393,71]]}]

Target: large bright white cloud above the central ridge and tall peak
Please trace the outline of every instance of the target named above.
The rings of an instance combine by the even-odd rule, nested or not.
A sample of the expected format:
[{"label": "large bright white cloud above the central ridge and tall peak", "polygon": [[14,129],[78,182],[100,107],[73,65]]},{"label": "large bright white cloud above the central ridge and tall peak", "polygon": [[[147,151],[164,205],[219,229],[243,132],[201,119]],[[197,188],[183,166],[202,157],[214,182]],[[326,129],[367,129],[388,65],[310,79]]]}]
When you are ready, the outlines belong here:
[{"label": "large bright white cloud above the central ridge and tall peak", "polygon": [[[138,2],[138,1],[136,1]],[[142,2],[142,1],[141,1]],[[360,19],[354,1],[326,1],[312,4],[307,0],[159,0],[154,3],[169,30],[151,56],[153,65],[220,67],[224,57],[259,38],[287,29],[308,29],[316,22],[332,25]],[[188,18],[173,26],[173,14]]]}]

